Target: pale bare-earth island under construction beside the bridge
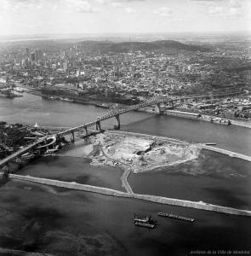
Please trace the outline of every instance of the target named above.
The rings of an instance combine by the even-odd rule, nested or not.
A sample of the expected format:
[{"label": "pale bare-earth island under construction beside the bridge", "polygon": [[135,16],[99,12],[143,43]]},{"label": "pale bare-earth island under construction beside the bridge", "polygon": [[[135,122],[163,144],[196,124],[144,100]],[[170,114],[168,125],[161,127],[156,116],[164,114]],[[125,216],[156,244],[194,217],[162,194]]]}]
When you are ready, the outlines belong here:
[{"label": "pale bare-earth island under construction beside the bridge", "polygon": [[196,159],[199,148],[166,137],[108,131],[93,138],[93,165],[119,165],[132,172],[146,172]]}]

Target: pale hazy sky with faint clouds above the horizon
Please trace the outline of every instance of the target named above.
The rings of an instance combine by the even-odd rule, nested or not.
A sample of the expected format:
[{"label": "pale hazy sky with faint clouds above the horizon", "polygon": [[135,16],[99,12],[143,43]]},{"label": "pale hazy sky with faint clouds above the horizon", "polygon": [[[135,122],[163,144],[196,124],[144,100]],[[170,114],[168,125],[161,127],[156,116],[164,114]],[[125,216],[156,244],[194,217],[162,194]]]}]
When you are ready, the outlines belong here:
[{"label": "pale hazy sky with faint clouds above the horizon", "polygon": [[0,35],[251,31],[251,0],[0,0]]}]

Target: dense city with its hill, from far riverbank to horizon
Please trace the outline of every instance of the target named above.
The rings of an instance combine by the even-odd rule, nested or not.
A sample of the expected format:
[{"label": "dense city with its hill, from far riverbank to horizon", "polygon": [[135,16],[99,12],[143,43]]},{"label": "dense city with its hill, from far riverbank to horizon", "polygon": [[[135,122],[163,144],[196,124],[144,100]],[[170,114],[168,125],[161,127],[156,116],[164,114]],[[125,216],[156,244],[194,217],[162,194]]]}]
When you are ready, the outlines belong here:
[{"label": "dense city with its hill, from far riverbank to horizon", "polygon": [[104,107],[110,102],[135,104],[155,95],[208,95],[177,108],[248,119],[249,50],[248,41],[2,43],[1,92],[20,96],[9,89],[21,86],[52,100],[95,102]]}]

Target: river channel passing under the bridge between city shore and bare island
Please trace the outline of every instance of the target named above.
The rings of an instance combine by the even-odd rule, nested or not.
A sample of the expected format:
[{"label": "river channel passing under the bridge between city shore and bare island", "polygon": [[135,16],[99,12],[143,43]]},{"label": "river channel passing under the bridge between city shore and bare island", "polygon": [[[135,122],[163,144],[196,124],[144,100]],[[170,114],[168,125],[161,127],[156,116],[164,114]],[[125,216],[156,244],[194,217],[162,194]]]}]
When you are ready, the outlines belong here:
[{"label": "river channel passing under the bridge between city shore and bare island", "polygon": [[[14,99],[0,98],[0,120],[27,125],[71,127],[96,119],[106,108],[72,102],[54,101],[24,94]],[[113,119],[102,122],[103,128],[112,128]],[[152,113],[129,112],[121,116],[122,130],[174,137],[196,143],[217,143],[240,154],[251,155],[251,129],[235,125],[157,116]]]}]

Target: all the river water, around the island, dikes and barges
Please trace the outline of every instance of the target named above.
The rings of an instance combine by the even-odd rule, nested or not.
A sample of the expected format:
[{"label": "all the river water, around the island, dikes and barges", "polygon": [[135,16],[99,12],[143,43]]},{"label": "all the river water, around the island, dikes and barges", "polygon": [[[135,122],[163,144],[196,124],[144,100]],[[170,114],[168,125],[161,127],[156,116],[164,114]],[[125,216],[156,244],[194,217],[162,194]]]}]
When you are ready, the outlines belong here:
[{"label": "all the river water, around the island, dikes and barges", "polygon": [[[0,98],[0,120],[27,125],[72,126],[106,111],[40,96]],[[155,116],[125,113],[124,131],[217,143],[220,148],[251,155],[251,131]],[[102,123],[112,128],[113,120]],[[116,173],[117,170],[117,173]],[[250,163],[203,150],[197,160],[161,172],[130,175],[134,192],[249,209]],[[56,157],[34,161],[23,174],[123,190],[121,170],[89,166],[88,160]],[[69,189],[11,181],[0,187],[0,247],[56,255],[188,255],[191,250],[250,250],[250,219],[216,212],[170,207],[144,201],[95,195]],[[196,218],[194,224],[157,218],[155,230],[137,228],[134,212],[174,212]],[[225,235],[227,234],[227,236]]]}]

